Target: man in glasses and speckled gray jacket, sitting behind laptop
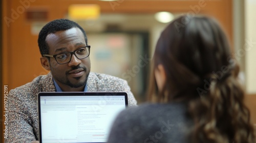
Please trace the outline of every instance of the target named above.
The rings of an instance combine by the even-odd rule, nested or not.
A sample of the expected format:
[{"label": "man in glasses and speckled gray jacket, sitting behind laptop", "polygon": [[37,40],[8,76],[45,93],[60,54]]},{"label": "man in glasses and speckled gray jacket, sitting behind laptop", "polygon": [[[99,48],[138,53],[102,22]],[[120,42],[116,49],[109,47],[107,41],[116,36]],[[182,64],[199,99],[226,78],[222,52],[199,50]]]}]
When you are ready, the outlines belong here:
[{"label": "man in glasses and speckled gray jacket, sitting behind laptop", "polygon": [[65,91],[124,91],[129,106],[137,104],[127,82],[117,77],[90,73],[90,48],[84,30],[74,21],[57,19],[38,36],[41,65],[48,75],[9,93],[8,139],[5,142],[38,140],[37,93]]}]

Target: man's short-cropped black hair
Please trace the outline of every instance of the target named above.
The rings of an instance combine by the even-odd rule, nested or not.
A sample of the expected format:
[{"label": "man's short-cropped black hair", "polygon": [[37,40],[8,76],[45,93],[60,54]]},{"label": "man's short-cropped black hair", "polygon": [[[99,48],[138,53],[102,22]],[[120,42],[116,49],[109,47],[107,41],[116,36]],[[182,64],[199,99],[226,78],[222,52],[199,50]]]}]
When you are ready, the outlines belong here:
[{"label": "man's short-cropped black hair", "polygon": [[41,29],[38,35],[37,42],[38,42],[41,55],[49,54],[49,46],[46,43],[46,37],[48,34],[55,33],[58,31],[69,30],[72,28],[79,28],[82,31],[84,40],[86,41],[86,44],[87,44],[86,32],[76,22],[71,21],[69,19],[56,19],[47,23],[47,25],[45,25]]}]

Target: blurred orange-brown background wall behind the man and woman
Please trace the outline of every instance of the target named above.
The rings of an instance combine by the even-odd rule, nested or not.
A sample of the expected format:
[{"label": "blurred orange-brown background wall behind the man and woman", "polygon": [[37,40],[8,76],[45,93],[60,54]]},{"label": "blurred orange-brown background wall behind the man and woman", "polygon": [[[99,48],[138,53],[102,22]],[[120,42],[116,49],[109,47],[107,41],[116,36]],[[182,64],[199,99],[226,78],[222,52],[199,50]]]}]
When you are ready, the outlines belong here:
[{"label": "blurred orange-brown background wall behind the man and woman", "polygon": [[[69,18],[87,32],[92,71],[128,81],[139,103],[145,101],[151,58],[160,32],[169,21],[157,12],[215,17],[225,30],[241,65],[246,104],[256,124],[256,0],[3,0],[1,2],[1,117],[4,130],[4,85],[8,91],[48,73],[40,65],[37,37],[49,21]],[[83,13],[83,15],[79,15]],[[78,14],[78,15],[77,15]],[[170,19],[171,20],[171,19]],[[0,138],[2,142],[2,138]]]}]

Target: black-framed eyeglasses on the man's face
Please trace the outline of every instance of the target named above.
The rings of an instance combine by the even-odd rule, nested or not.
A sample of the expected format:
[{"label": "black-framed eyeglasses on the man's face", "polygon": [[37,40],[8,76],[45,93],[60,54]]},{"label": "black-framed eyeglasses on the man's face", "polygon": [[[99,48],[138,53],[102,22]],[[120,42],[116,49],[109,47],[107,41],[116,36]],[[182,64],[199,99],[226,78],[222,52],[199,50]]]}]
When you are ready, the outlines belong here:
[{"label": "black-framed eyeglasses on the man's face", "polygon": [[87,45],[87,46],[80,47],[79,49],[73,52],[65,52],[65,53],[56,54],[56,55],[44,54],[42,56],[53,57],[55,58],[58,64],[65,64],[71,61],[73,54],[76,56],[77,59],[87,58],[90,55],[90,47],[91,47],[90,45]]}]

